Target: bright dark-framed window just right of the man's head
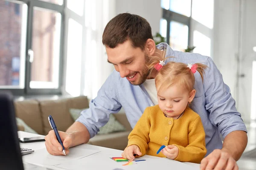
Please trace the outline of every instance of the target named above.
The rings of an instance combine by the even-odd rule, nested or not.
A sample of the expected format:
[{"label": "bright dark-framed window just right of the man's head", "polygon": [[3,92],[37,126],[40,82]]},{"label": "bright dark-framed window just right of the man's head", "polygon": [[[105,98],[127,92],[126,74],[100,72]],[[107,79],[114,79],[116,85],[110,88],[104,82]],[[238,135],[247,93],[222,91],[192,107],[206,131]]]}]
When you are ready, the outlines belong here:
[{"label": "bright dark-framed window just right of the man's head", "polygon": [[191,0],[161,0],[161,7],[160,34],[172,49],[184,51],[189,45]]}]

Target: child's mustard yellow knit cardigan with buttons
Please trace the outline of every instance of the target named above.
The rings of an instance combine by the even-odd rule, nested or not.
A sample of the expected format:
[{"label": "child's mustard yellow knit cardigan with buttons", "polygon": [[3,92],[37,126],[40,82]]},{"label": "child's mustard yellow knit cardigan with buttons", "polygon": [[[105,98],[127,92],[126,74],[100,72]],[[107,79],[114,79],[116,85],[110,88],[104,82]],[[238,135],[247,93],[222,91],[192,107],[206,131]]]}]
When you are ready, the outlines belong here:
[{"label": "child's mustard yellow knit cardigan with buttons", "polygon": [[175,120],[165,117],[158,105],[146,108],[128,140],[128,146],[140,147],[141,156],[166,157],[161,152],[157,154],[157,150],[170,144],[179,148],[177,161],[200,163],[207,153],[201,118],[190,108]]}]

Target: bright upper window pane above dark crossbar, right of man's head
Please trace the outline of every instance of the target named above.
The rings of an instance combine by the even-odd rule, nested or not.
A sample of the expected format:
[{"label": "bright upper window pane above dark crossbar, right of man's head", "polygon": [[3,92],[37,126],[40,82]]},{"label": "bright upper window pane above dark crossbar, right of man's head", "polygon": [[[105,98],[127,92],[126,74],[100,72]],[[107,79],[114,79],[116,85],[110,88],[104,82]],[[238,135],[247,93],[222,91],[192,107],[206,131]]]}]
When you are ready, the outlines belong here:
[{"label": "bright upper window pane above dark crossbar, right of man's head", "polygon": [[170,11],[174,11],[178,14],[191,15],[191,0],[170,0]]}]

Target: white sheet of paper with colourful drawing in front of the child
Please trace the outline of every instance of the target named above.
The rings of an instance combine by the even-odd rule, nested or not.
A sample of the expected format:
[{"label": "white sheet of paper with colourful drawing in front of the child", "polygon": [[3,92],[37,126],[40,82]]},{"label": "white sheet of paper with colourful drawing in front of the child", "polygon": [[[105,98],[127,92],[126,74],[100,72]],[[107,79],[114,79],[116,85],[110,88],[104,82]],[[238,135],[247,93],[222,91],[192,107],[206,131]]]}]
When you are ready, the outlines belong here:
[{"label": "white sheet of paper with colourful drawing in front of the child", "polygon": [[110,155],[107,151],[102,151],[79,160],[59,164],[56,167],[66,170],[157,170],[166,168],[169,170],[197,170],[182,162],[155,156],[136,158],[135,160],[145,159],[146,161],[137,161],[136,164],[125,166],[123,164],[126,164],[127,161],[117,162],[111,157],[119,157],[119,155]]}]

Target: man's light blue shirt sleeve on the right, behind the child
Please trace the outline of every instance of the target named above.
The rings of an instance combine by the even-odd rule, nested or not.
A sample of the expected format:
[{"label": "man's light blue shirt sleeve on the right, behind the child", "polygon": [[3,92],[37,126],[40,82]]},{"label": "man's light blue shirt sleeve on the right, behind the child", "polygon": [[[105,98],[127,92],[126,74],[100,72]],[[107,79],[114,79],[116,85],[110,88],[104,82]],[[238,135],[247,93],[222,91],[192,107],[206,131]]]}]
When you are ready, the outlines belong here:
[{"label": "man's light blue shirt sleeve on the right, behind the child", "polygon": [[221,135],[235,130],[247,132],[241,114],[236,110],[236,102],[230,94],[230,88],[224,83],[222,75],[212,59],[208,57],[204,77],[204,92],[206,109],[209,111],[209,119],[218,127]]}]

